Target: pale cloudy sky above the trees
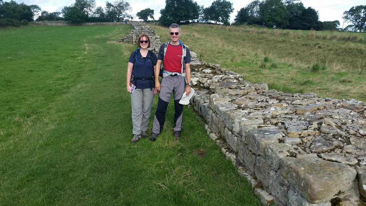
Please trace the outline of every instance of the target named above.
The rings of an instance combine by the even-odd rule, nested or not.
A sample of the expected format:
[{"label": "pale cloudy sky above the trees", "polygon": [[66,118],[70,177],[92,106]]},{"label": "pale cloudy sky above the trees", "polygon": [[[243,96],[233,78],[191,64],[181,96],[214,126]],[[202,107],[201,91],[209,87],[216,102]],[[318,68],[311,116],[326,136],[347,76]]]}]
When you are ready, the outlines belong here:
[{"label": "pale cloudy sky above the trees", "polygon": [[[8,0],[5,0],[8,1]],[[75,0],[16,0],[18,3],[24,2],[27,5],[37,4],[42,10],[48,12],[61,11],[61,9],[66,5],[71,5]],[[113,2],[114,0],[109,0]],[[199,5],[208,7],[211,5],[213,0],[196,0]],[[245,7],[252,0],[229,0],[233,3],[234,12],[231,14],[230,22],[234,22],[235,15],[238,13],[240,8]],[[301,0],[305,7],[313,7],[318,11],[320,21],[334,21],[338,20],[342,27],[342,16],[343,12],[349,10],[352,6],[363,5],[365,0]],[[96,0],[97,6],[105,7],[107,0]],[[154,18],[158,19],[160,17],[160,10],[165,7],[165,1],[160,0],[127,0],[131,4],[132,11],[130,14],[136,16],[136,13],[145,9],[151,8],[154,10]],[[138,19],[136,19],[138,20]],[[348,25],[344,23],[344,25]]]}]

